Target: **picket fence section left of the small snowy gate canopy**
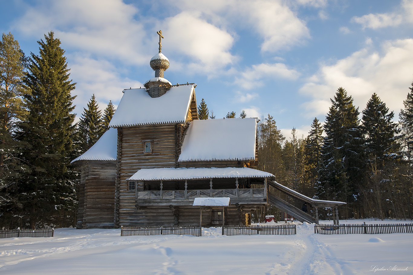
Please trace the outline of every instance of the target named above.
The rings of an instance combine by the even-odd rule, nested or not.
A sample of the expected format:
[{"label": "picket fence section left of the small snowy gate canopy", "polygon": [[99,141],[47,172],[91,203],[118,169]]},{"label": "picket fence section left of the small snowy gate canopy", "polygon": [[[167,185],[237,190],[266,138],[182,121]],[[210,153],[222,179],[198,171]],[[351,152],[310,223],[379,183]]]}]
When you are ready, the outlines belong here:
[{"label": "picket fence section left of the small snowy gate canopy", "polygon": [[121,236],[193,235],[201,236],[199,226],[122,226]]}]

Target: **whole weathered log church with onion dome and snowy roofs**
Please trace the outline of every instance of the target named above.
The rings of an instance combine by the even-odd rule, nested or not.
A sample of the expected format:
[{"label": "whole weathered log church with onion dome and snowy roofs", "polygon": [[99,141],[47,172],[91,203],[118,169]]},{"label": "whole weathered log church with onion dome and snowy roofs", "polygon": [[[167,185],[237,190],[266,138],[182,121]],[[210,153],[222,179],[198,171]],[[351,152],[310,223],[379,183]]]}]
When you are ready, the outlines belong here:
[{"label": "whole weathered log church with onion dome and snowy roofs", "polygon": [[[76,228],[197,225],[199,207],[192,206],[197,197],[229,197],[226,224],[249,223],[250,213],[268,202],[301,212],[268,194],[269,184],[278,183],[255,169],[259,120],[198,120],[196,85],[172,85],[164,78],[169,60],[158,34],[159,53],[150,61],[155,77],[145,88],[123,90],[107,132],[72,161],[81,168]],[[316,208],[328,204],[300,199]],[[222,207],[204,207],[202,226],[221,225],[222,216]]]}]

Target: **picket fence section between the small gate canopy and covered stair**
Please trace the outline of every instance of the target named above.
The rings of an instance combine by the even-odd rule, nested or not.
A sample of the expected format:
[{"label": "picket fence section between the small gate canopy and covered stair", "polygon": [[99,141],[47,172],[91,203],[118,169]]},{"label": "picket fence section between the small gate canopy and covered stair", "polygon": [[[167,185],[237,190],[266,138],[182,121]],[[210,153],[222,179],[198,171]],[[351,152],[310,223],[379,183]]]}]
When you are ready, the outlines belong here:
[{"label": "picket fence section between the small gate canopy and covered stair", "polygon": [[227,225],[222,228],[222,235],[295,235],[297,228],[295,224],[282,226],[240,226]]}]

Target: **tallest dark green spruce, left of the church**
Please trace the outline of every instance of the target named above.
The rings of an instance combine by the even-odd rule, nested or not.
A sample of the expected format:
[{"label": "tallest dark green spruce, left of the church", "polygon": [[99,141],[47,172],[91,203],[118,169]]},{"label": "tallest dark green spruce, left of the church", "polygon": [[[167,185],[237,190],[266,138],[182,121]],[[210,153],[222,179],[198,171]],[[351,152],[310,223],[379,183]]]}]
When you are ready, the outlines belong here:
[{"label": "tallest dark green spruce, left of the church", "polygon": [[25,210],[21,216],[30,220],[31,228],[39,222],[66,226],[76,210],[74,173],[69,167],[74,157],[71,91],[76,83],[69,79],[64,50],[54,33],[38,44],[40,54],[31,54],[24,79],[31,92],[25,95],[30,113],[19,134],[31,144],[23,151],[31,170],[19,184]]}]

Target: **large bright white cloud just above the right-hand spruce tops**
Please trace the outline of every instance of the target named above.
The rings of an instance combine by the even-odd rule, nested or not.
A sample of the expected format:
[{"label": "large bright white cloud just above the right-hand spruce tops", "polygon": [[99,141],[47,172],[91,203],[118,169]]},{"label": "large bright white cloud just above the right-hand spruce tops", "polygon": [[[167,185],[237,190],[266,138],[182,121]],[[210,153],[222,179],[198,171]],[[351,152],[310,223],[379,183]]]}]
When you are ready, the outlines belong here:
[{"label": "large bright white cloud just above the right-hand spruce tops", "polygon": [[413,39],[387,41],[381,52],[370,47],[354,52],[333,65],[321,65],[320,70],[300,92],[313,99],[303,104],[312,116],[325,115],[339,87],[353,96],[356,106],[363,110],[375,92],[395,113],[403,108],[412,81]]}]

